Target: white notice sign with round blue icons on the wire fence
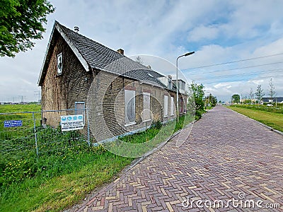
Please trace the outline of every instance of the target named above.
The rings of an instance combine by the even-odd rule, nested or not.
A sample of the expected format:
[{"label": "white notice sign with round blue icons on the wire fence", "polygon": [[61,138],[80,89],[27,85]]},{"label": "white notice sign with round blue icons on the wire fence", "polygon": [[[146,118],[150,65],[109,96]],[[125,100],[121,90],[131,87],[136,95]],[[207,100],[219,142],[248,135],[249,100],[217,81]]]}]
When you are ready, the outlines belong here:
[{"label": "white notice sign with round blue icons on the wire fence", "polygon": [[76,129],[83,129],[83,115],[69,115],[61,116],[61,129],[62,131],[71,131]]}]

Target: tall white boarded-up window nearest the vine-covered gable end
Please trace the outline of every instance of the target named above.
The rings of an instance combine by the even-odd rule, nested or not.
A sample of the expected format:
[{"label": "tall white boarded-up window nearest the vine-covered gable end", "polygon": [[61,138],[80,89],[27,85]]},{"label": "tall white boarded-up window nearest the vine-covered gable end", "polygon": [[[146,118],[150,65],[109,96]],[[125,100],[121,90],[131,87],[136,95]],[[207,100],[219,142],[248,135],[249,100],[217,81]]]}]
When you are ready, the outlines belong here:
[{"label": "tall white boarded-up window nearest the vine-covered gable end", "polygon": [[136,92],[125,90],[125,124],[132,124],[136,119]]}]

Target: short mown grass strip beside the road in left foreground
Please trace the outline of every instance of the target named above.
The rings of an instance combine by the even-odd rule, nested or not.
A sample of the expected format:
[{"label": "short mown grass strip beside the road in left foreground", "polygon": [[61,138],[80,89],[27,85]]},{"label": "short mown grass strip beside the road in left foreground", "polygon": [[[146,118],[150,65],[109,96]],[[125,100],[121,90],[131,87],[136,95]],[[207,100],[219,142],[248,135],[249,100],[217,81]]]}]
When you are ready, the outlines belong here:
[{"label": "short mown grass strip beside the road in left foreground", "polygon": [[[83,158],[84,157],[84,160]],[[76,161],[84,162],[56,177],[25,179],[21,184],[12,184],[1,194],[0,211],[61,211],[101,187],[131,163],[131,158],[122,158],[109,152],[81,155]]]}]

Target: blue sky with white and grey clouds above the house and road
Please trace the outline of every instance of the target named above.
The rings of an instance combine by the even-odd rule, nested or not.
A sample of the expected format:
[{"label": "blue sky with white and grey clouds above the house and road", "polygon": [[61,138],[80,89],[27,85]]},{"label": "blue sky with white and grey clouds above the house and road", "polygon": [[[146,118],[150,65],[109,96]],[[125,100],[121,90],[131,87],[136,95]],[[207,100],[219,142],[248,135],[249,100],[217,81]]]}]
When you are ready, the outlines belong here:
[{"label": "blue sky with white and grey clouds above the house and road", "polygon": [[[270,78],[277,96],[283,96],[282,0],[269,1],[67,1],[51,3],[44,38],[33,50],[15,58],[1,57],[0,101],[37,100],[37,79],[54,20],[125,55],[141,55],[144,64],[163,74],[162,59],[178,60],[187,81],[205,86],[218,100],[248,95],[262,85],[266,95]],[[146,56],[144,56],[146,55]]]}]

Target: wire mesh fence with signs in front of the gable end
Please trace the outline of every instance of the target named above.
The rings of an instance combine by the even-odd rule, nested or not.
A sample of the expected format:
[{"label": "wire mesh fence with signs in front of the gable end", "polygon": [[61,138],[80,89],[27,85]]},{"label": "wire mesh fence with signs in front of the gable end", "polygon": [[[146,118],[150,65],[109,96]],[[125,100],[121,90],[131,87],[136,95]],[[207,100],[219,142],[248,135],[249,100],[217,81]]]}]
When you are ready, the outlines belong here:
[{"label": "wire mesh fence with signs in front of the gable end", "polygon": [[82,144],[90,145],[86,108],[0,113],[0,123],[0,152],[5,159],[34,153],[39,158]]}]

